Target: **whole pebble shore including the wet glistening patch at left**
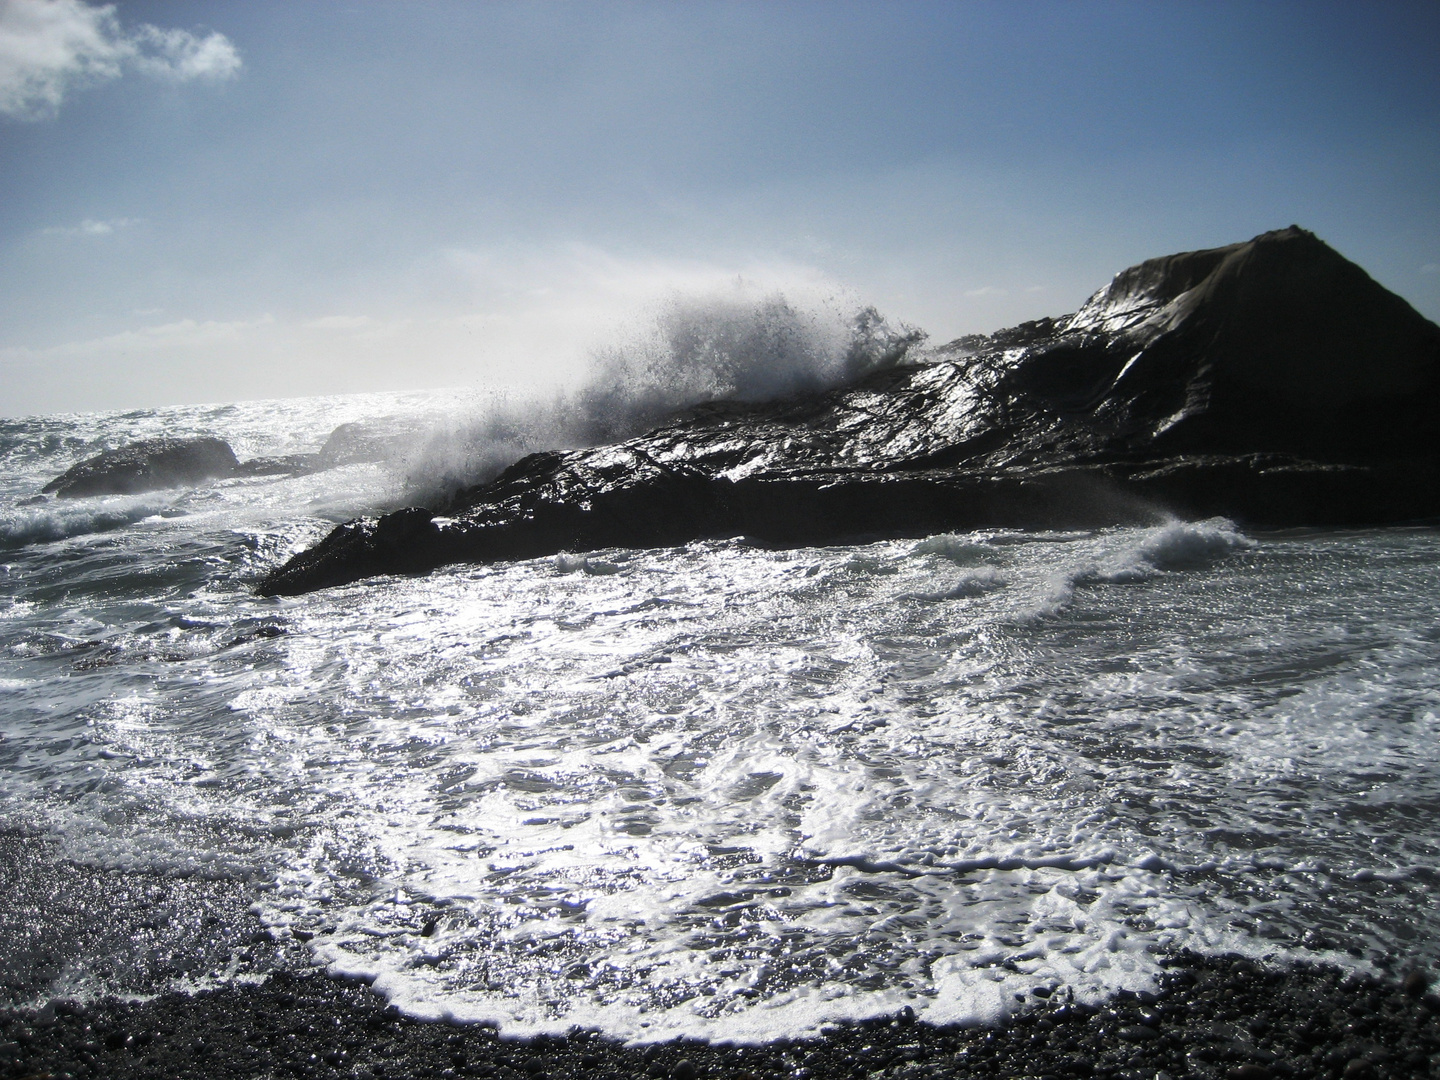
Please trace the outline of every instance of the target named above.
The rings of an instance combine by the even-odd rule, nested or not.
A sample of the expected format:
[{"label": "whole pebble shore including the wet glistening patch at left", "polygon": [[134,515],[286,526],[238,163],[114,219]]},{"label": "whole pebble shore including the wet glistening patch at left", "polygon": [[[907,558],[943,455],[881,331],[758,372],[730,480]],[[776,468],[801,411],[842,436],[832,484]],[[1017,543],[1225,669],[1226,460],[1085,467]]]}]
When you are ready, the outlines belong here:
[{"label": "whole pebble shore including the wet glistening patch at left", "polygon": [[[98,870],[20,831],[0,831],[0,1077],[1440,1077],[1440,996],[1418,971],[1375,979],[1182,952],[1164,960],[1156,994],[1122,991],[1096,1007],[1038,988],[995,1027],[936,1027],[901,1011],[762,1044],[626,1045],[598,1031],[503,1038],[494,1027],[403,1015],[369,984],[323,972],[259,924],[249,890],[232,880]],[[68,999],[82,996],[66,991],[85,985],[75,971],[134,996]],[[167,989],[177,976],[219,985]]]}]

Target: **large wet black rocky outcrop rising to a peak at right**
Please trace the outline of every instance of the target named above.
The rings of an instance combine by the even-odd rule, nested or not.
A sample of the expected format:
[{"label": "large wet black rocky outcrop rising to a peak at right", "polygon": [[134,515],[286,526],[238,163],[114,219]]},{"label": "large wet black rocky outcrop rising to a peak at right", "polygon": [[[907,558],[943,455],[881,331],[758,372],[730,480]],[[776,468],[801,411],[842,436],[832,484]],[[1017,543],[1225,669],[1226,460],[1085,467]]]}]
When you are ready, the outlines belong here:
[{"label": "large wet black rocky outcrop rising to a peak at right", "polygon": [[795,546],[1225,514],[1440,514],[1440,327],[1299,228],[1151,259],[1080,311],[851,386],[711,403],[336,528],[264,593],[560,550]]}]

